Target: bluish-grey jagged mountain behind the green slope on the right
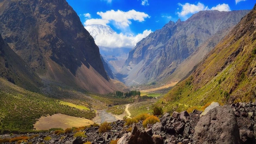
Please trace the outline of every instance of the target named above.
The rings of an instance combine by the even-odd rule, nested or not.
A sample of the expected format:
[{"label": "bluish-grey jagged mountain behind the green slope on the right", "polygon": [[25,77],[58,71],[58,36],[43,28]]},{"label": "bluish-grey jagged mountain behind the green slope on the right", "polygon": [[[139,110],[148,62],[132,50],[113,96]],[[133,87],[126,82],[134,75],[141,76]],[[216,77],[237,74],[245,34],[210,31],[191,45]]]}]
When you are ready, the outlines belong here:
[{"label": "bluish-grey jagged mountain behind the green slope on the right", "polygon": [[[129,52],[121,73],[127,85],[144,84],[171,75],[177,66],[208,41],[213,48],[224,36],[225,31],[236,25],[248,10],[200,11],[186,21],[170,21],[162,29],[148,35]],[[220,38],[209,41],[216,34]],[[205,56],[205,53],[200,57]],[[200,58],[196,60],[200,61]],[[197,63],[195,62],[195,63]],[[193,68],[194,65],[192,65]],[[191,67],[191,66],[190,66]]]}]

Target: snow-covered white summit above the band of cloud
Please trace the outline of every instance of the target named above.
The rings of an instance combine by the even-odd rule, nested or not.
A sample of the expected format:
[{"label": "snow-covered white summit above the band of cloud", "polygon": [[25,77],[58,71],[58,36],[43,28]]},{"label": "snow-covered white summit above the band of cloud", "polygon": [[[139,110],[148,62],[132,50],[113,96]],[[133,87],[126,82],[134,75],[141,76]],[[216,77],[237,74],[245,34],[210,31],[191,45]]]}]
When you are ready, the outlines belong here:
[{"label": "snow-covered white summit above the band of cloud", "polygon": [[91,24],[84,27],[90,35],[95,39],[97,35],[113,35],[115,32],[109,26],[103,26],[102,24]]}]

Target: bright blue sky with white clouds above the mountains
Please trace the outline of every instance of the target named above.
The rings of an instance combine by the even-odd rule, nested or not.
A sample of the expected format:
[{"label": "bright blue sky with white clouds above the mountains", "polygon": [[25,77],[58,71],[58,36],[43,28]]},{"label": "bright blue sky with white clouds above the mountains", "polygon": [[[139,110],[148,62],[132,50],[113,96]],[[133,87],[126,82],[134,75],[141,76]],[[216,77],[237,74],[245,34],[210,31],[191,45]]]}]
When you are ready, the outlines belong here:
[{"label": "bright blue sky with white clouds above the mountains", "polygon": [[[200,10],[252,9],[255,0],[67,0],[86,24],[103,24],[119,33],[138,35],[161,29],[170,20],[184,21]],[[151,32],[150,31],[150,32]]]}]

